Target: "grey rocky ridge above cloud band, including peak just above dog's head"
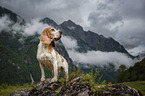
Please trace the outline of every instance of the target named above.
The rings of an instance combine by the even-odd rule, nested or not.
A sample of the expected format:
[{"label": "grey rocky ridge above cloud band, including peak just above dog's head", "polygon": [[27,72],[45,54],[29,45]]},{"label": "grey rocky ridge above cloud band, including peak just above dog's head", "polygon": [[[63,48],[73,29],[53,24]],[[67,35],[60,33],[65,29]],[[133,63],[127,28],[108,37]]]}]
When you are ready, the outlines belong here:
[{"label": "grey rocky ridge above cloud band, including peak just above dog's head", "polygon": [[[46,22],[46,19],[48,19],[47,20],[48,22]],[[51,22],[49,22],[50,20],[51,20]],[[87,52],[87,50],[88,51],[99,50],[99,51],[106,51],[106,52],[117,51],[117,52],[125,53],[131,58],[134,57],[131,54],[129,54],[127,52],[127,50],[119,42],[114,40],[112,37],[106,38],[103,35],[99,35],[92,31],[84,31],[82,26],[75,24],[72,20],[64,21],[63,23],[61,23],[59,25],[54,20],[52,20],[52,19],[50,19],[50,20],[48,17],[45,17],[41,21],[43,21],[44,24],[49,24],[54,27],[56,26],[57,28],[61,29],[63,31],[63,35],[72,36],[73,38],[75,38],[78,41],[77,43],[78,43],[79,47],[80,48],[81,48],[81,46],[83,47],[83,48],[81,48],[81,50],[83,50],[82,52]],[[91,37],[91,39],[90,39],[90,37]],[[104,43],[100,46],[100,44],[103,42],[101,40],[104,40]],[[108,47],[109,44],[108,44],[107,40],[108,40],[108,42],[111,41],[112,43],[116,44],[116,46],[118,46],[118,47],[116,47],[116,46],[114,46],[114,48],[111,46]],[[83,42],[81,42],[81,41],[83,41]],[[86,47],[85,41],[89,42],[88,46],[90,46],[90,48],[88,48],[88,46]],[[97,43],[95,43],[95,42],[97,42]],[[82,44],[80,44],[80,43],[82,43]],[[104,46],[104,45],[106,45],[106,46]],[[85,47],[86,47],[86,50],[84,50]],[[114,50],[115,48],[116,48],[116,50]]]}]

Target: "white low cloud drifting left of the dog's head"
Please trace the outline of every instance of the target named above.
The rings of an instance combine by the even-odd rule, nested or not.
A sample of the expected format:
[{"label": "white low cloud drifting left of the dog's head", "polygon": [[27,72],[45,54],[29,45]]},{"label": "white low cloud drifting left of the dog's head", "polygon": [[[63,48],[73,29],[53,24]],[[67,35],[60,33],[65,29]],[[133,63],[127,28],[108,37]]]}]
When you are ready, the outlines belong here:
[{"label": "white low cloud drifting left of the dog's head", "polygon": [[22,32],[23,35],[34,35],[36,32],[41,34],[44,28],[49,25],[39,22],[40,19],[32,19],[30,23],[25,23],[25,25],[20,25],[19,23],[14,23],[10,18],[5,15],[0,18],[0,32],[2,30],[11,31],[13,33]]}]

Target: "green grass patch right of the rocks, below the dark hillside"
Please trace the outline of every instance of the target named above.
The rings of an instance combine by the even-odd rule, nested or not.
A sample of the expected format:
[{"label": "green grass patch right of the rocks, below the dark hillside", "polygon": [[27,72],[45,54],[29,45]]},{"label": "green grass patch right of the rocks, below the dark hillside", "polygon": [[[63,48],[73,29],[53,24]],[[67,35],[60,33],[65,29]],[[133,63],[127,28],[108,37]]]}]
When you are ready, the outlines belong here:
[{"label": "green grass patch right of the rocks, below the dark hillside", "polygon": [[126,86],[130,86],[136,90],[140,90],[145,95],[145,81],[123,82]]}]

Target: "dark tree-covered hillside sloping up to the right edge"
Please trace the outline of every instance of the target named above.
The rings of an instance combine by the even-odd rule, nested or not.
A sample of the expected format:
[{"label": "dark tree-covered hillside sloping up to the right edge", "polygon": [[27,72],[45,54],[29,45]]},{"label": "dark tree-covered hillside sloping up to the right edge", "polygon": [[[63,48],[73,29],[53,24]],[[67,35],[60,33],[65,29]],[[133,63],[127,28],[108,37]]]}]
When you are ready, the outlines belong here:
[{"label": "dark tree-covered hillside sloping up to the right edge", "polygon": [[118,82],[144,81],[145,80],[145,58],[135,63],[129,69],[121,72],[117,78]]}]

